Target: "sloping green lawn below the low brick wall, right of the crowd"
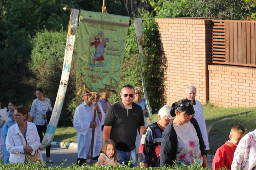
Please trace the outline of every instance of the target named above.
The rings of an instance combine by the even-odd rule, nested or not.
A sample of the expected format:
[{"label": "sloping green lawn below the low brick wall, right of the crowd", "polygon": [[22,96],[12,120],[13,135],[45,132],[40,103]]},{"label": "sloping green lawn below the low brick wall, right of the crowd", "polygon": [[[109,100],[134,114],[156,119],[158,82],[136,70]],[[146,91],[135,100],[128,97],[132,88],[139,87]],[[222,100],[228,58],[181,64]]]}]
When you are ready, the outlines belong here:
[{"label": "sloping green lawn below the low brick wall, right of the crowd", "polygon": [[203,111],[210,145],[209,154],[215,154],[216,150],[229,140],[229,133],[234,124],[243,125],[247,133],[256,129],[255,107],[204,107]]}]

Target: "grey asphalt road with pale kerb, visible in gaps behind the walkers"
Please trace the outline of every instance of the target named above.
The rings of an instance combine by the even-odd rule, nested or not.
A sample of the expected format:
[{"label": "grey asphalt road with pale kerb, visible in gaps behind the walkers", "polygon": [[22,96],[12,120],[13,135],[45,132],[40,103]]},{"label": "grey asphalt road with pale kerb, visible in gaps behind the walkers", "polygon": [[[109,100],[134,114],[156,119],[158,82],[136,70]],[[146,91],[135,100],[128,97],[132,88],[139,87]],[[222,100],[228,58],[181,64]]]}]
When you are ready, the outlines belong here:
[{"label": "grey asphalt road with pale kerb, visible in gaps behind the walkers", "polygon": [[[56,142],[52,142],[54,145],[52,145],[51,148],[51,159],[53,160],[54,163],[46,163],[47,166],[54,166],[54,165],[61,165],[61,167],[68,167],[72,164],[76,164],[76,159],[77,159],[77,145],[76,143],[69,143],[67,146],[59,145],[56,144]],[[63,148],[64,147],[64,148]],[[42,155],[43,155],[43,160],[46,159],[46,153],[45,149],[42,150]],[[212,168],[212,160],[213,160],[214,155],[208,155],[208,166],[209,168]],[[64,163],[64,160],[66,162]],[[93,164],[96,163],[97,160],[93,160]],[[88,163],[89,165],[90,163]]]}]

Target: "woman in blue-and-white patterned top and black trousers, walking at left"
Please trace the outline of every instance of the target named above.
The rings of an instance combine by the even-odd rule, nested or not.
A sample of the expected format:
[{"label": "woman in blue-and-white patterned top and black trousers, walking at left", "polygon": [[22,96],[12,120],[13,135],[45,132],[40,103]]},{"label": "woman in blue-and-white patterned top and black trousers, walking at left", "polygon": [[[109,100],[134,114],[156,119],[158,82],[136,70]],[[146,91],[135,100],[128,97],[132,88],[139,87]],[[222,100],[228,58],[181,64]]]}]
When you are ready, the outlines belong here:
[{"label": "woman in blue-and-white patterned top and black trousers, walking at left", "polygon": [[[30,122],[33,122],[37,126],[37,131],[40,137],[40,141],[43,141],[43,133],[46,133],[46,112],[53,111],[50,99],[44,97],[44,91],[42,88],[37,88],[35,90],[35,99],[31,105],[30,109]],[[46,147],[46,162],[53,163],[50,158],[51,145]]]}]

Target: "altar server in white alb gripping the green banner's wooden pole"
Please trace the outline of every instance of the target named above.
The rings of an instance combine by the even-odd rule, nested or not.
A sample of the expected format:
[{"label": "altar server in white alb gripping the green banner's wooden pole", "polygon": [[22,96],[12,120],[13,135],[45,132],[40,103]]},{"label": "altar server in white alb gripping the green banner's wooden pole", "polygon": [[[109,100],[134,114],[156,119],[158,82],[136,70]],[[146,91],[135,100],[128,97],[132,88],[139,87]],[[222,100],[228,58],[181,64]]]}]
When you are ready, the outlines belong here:
[{"label": "altar server in white alb gripping the green banner's wooden pole", "polygon": [[[95,128],[93,157],[99,156],[102,145],[101,121],[103,109],[93,101],[86,104],[91,96],[93,95],[89,91],[83,90],[82,98],[84,102],[75,109],[74,128],[77,131],[77,165],[79,166],[86,163],[87,155],[91,156],[93,128]],[[94,109],[96,110],[95,122],[93,121]]]}]

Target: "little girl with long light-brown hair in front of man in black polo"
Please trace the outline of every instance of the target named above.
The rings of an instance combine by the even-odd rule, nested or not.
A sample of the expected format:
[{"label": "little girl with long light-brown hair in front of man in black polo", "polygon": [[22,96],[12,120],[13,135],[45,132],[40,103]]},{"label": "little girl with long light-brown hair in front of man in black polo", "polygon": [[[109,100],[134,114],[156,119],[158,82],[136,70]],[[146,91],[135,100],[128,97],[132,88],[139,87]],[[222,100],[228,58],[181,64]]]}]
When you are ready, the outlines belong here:
[{"label": "little girl with long light-brown hair in front of man in black polo", "polygon": [[117,162],[118,156],[116,152],[116,146],[112,139],[106,139],[102,143],[102,147],[100,149],[100,156],[98,158],[98,162],[96,165],[99,166],[106,166],[106,165],[113,165],[114,167]]}]

